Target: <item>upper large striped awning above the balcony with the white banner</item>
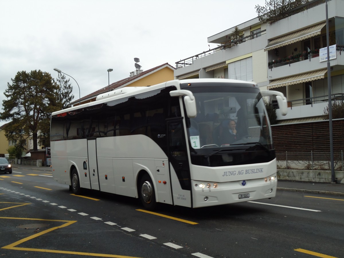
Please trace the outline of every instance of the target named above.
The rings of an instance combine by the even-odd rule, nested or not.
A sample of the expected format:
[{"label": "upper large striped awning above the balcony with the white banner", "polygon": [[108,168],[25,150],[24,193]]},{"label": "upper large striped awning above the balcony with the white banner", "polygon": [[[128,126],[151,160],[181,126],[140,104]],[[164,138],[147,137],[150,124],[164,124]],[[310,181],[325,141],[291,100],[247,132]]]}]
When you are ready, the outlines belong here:
[{"label": "upper large striped awning above the balcony with the white banner", "polygon": [[303,30],[295,31],[293,33],[278,37],[277,39],[273,39],[264,48],[264,51],[276,49],[277,47],[286,46],[291,43],[319,35],[321,33],[321,29],[324,28],[324,26],[326,26],[326,22],[314,25]]}]

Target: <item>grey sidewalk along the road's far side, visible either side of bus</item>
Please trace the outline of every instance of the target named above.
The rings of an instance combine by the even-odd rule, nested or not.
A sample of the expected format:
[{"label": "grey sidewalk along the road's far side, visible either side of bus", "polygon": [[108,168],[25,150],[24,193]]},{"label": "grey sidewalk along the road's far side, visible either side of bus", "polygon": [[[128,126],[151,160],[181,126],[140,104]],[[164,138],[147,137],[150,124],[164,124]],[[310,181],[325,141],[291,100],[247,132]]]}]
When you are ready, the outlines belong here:
[{"label": "grey sidewalk along the road's far side, visible either side of bus", "polygon": [[[13,165],[13,168],[50,171],[49,166]],[[278,180],[277,190],[344,196],[344,184]]]}]

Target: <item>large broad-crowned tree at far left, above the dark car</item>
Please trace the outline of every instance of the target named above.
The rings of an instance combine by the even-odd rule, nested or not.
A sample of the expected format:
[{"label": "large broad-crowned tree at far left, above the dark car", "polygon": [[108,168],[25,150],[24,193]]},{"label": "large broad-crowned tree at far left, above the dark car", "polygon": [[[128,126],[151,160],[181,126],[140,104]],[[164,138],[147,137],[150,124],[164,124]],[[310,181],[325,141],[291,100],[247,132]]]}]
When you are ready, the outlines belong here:
[{"label": "large broad-crowned tree at far left, above the dark car", "polygon": [[49,73],[41,70],[18,72],[11,80],[0,112],[0,119],[11,120],[4,128],[5,136],[17,144],[23,144],[23,135],[32,136],[33,149],[37,150],[37,132],[49,135],[51,112],[58,109],[54,96],[56,84]]}]

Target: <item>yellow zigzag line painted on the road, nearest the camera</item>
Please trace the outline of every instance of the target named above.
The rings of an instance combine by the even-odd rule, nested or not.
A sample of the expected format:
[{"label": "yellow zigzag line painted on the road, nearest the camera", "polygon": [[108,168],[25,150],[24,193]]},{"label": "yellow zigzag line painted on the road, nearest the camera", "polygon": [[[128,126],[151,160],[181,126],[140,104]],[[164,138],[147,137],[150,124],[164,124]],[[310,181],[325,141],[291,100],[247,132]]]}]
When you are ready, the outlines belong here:
[{"label": "yellow zigzag line painted on the road, nearest the camera", "polygon": [[123,255],[111,255],[111,254],[97,254],[92,252],[74,252],[74,251],[63,251],[63,250],[50,250],[50,249],[38,249],[38,248],[24,248],[24,247],[16,247],[26,241],[29,241],[33,238],[39,237],[43,234],[52,232],[55,229],[67,227],[69,225],[72,225],[73,223],[77,221],[63,221],[63,220],[56,220],[56,219],[39,219],[39,218],[9,218],[9,217],[0,217],[0,219],[23,219],[23,220],[36,220],[36,221],[53,221],[53,222],[66,222],[62,224],[61,226],[52,227],[46,230],[43,230],[42,232],[36,233],[32,236],[25,237],[21,240],[18,240],[12,244],[9,244],[7,246],[1,247],[3,249],[10,249],[10,250],[20,250],[20,251],[36,251],[36,252],[50,252],[54,254],[71,254],[71,255],[88,255],[88,256],[97,256],[97,257],[112,257],[112,258],[138,258],[133,256],[123,256]]}]

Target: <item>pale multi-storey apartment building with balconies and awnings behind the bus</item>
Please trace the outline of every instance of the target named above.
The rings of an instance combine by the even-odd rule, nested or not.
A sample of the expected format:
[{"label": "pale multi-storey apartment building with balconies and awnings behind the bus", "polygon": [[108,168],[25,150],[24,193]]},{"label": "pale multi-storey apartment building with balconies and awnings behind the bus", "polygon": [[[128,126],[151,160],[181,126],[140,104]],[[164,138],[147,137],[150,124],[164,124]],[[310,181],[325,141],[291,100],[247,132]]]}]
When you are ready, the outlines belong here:
[{"label": "pale multi-storey apartment building with balconies and awnings behind the bus", "polygon": [[[344,0],[327,6],[331,97],[343,100]],[[261,90],[287,97],[288,115],[277,109],[278,123],[322,120],[329,99],[325,0],[309,1],[288,15],[273,23],[254,18],[208,37],[218,47],[176,62],[174,77],[254,81]]]}]

